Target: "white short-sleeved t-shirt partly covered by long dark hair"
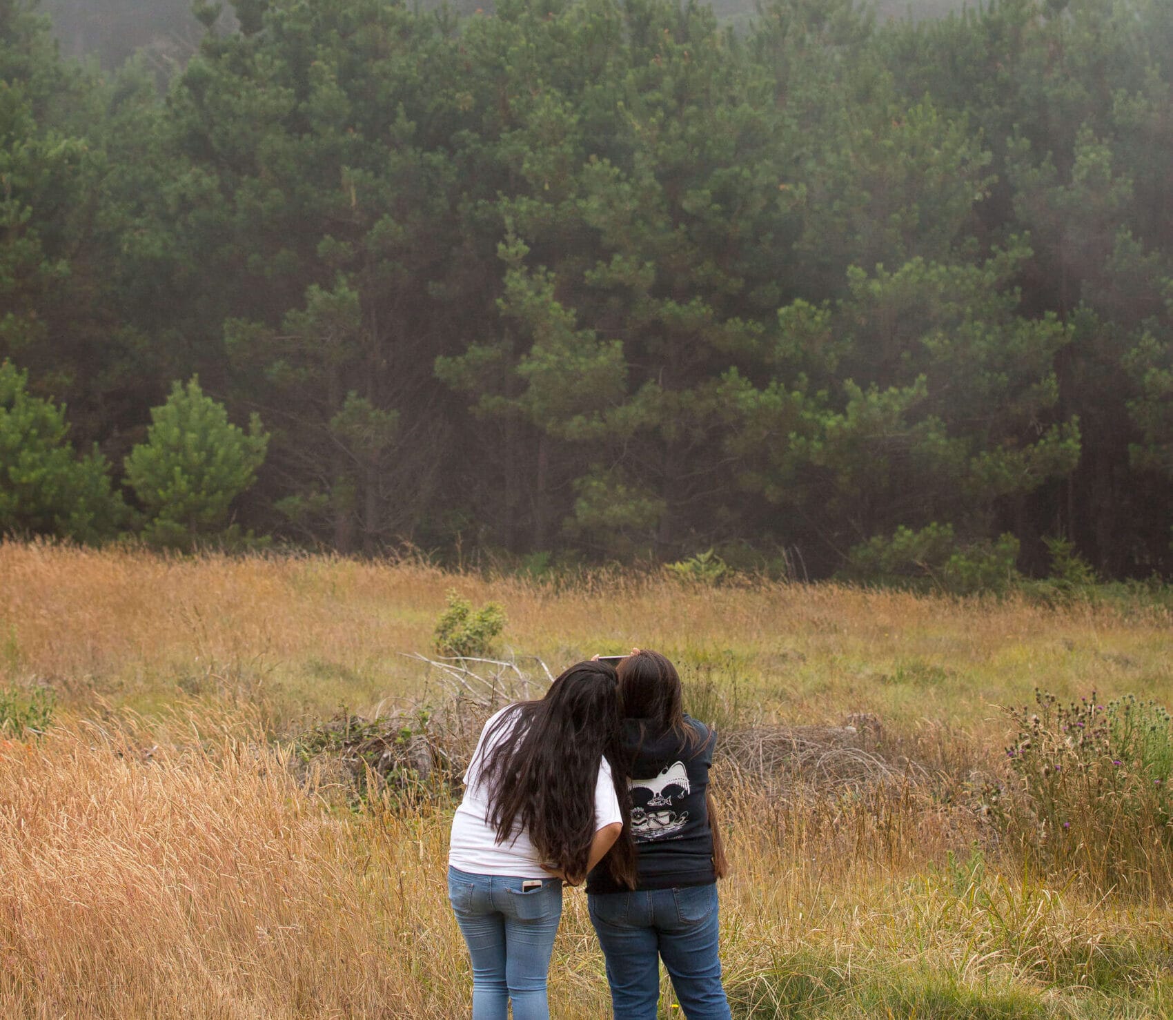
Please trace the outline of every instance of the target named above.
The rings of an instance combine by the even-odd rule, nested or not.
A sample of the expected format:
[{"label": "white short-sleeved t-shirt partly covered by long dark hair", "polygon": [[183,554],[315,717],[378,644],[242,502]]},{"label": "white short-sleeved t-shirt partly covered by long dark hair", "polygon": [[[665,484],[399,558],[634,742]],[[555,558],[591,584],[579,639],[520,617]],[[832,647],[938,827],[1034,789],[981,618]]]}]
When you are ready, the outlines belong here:
[{"label": "white short-sleeved t-shirt partly covered by long dark hair", "polygon": [[[481,765],[484,756],[504,736],[509,727],[503,727],[488,745],[484,735],[489,728],[515,705],[506,705],[494,715],[481,730],[473,761],[465,772],[465,799],[460,802],[452,819],[452,843],[448,847],[448,864],[470,874],[508,874],[514,878],[549,878],[542,870],[542,859],[529,842],[529,833],[515,830],[513,838],[497,843],[496,830],[486,820],[489,813],[489,791],[481,782]],[[622,822],[619,798],[615,796],[611,766],[606,758],[598,764],[598,782],[595,784],[595,831]]]}]

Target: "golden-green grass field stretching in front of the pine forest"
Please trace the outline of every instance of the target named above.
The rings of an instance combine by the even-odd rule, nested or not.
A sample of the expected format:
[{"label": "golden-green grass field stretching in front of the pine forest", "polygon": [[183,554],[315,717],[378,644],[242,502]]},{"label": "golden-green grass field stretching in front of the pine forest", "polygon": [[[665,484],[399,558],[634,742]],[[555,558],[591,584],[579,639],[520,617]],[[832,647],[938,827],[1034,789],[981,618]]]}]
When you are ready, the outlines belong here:
[{"label": "golden-green grass field stretching in front of the pine forest", "polygon": [[[0,1015],[466,1014],[450,798],[360,799],[296,754],[340,710],[449,697],[405,655],[430,650],[449,589],[500,601],[506,644],[555,671],[665,651],[730,747],[875,717],[876,747],[849,761],[882,757],[882,775],[793,769],[777,742],[769,768],[723,759],[734,1015],[1173,1013],[1165,878],[1137,894],[1028,866],[977,792],[1006,774],[998,707],[1036,687],[1167,700],[1167,609],[7,543],[0,689],[47,685],[57,708],[42,737],[0,736]],[[568,892],[554,1013],[606,1002],[584,897]]]}]

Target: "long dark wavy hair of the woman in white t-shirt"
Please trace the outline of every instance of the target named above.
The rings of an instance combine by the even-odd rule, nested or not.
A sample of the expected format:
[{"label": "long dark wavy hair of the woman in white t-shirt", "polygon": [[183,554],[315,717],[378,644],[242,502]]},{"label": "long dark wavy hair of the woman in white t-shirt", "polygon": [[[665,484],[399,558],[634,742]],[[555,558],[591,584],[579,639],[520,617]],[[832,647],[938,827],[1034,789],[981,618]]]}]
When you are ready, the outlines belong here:
[{"label": "long dark wavy hair of the woman in white t-shirt", "polygon": [[489,825],[497,843],[524,829],[543,862],[572,881],[586,873],[595,838],[595,785],[599,759],[611,766],[623,813],[623,835],[606,857],[612,877],[635,886],[631,797],[619,750],[619,698],[615,668],[579,662],[550,684],[541,701],[503,712],[484,736],[496,743],[484,757]]}]

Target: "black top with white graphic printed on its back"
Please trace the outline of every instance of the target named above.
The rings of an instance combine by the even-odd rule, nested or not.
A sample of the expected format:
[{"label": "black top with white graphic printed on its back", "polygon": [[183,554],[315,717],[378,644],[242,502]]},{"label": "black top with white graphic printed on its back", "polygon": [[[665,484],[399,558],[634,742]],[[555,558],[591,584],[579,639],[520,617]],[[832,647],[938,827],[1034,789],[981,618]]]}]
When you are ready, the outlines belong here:
[{"label": "black top with white graphic printed on its back", "polygon": [[[694,744],[652,728],[647,720],[624,723],[624,750],[631,761],[631,836],[638,853],[636,889],[707,885],[713,872],[713,833],[705,793],[717,735],[690,716]],[[605,864],[586,877],[588,892],[621,892]]]}]

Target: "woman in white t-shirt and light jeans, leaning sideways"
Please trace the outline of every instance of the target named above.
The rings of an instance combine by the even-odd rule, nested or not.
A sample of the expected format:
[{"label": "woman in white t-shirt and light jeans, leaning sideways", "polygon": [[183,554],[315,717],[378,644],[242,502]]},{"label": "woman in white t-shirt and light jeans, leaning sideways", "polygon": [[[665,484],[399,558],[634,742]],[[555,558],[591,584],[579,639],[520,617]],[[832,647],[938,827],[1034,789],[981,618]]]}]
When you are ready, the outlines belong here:
[{"label": "woman in white t-shirt and light jeans, leaning sideways", "polygon": [[541,701],[508,705],[481,732],[452,823],[448,897],[473,959],[473,1020],[547,1020],[547,973],[562,916],[562,883],[608,858],[635,881],[616,784],[615,669],[581,662]]}]

